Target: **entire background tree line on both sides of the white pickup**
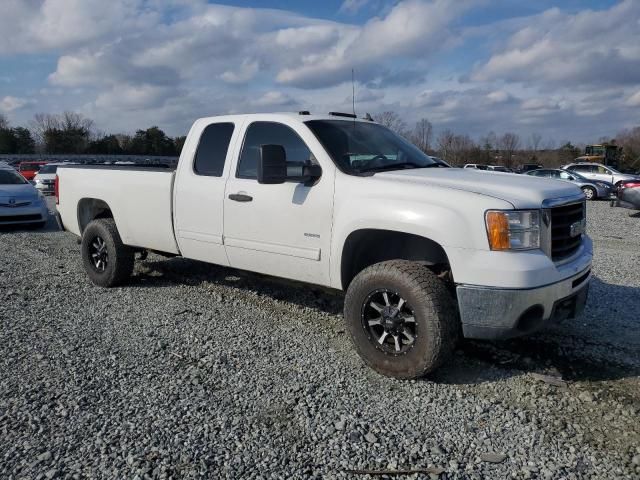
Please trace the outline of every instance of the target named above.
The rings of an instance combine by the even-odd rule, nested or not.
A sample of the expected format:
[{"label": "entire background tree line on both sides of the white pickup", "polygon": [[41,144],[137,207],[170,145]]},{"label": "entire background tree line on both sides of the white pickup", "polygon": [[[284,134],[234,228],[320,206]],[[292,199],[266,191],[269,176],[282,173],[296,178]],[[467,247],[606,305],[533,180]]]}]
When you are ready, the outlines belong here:
[{"label": "entire background tree line on both sides of the white pickup", "polygon": [[[584,153],[582,146],[571,142],[544,141],[532,133],[523,139],[513,132],[489,132],[474,140],[467,134],[444,129],[437,135],[432,123],[422,118],[409,127],[393,111],[373,116],[374,120],[399,133],[419,149],[435,155],[454,166],[465,163],[499,164],[514,167],[536,162],[558,166]],[[105,134],[95,129],[94,122],[76,112],[36,114],[27,127],[11,127],[0,114],[0,153],[102,154],[178,156],[186,137],[169,137],[159,127],[137,130],[135,134]],[[597,143],[613,142],[623,147],[627,166],[640,166],[640,126],[620,132],[614,139],[599,139]],[[596,142],[594,142],[596,143]]]}]

